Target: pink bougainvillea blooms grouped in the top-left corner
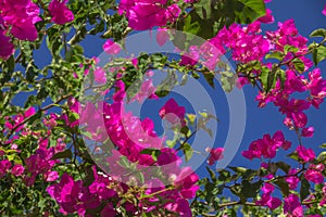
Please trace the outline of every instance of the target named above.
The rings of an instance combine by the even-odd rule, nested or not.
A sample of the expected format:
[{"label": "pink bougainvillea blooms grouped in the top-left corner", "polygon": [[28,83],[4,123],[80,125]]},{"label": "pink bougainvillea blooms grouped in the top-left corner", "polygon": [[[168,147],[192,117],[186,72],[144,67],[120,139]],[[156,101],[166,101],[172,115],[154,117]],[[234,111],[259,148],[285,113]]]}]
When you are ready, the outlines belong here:
[{"label": "pink bougainvillea blooms grouped in the top-left corner", "polygon": [[[52,0],[49,11],[52,22],[65,24],[74,20],[74,14],[65,3],[67,1]],[[20,40],[34,41],[38,37],[35,24],[40,22],[40,9],[30,0],[26,1],[0,1],[0,58],[7,60],[14,53],[14,44],[11,36]]]}]

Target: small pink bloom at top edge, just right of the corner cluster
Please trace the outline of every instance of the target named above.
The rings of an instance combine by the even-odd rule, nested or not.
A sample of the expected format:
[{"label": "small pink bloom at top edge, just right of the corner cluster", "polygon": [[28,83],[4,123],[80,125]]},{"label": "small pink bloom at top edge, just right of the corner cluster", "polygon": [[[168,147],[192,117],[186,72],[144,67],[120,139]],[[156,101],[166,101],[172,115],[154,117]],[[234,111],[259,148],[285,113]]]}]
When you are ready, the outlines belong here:
[{"label": "small pink bloom at top edge, just right of the corner cluster", "polygon": [[52,22],[63,25],[74,21],[73,12],[65,5],[67,0],[52,0],[49,4],[49,11],[52,16]]}]

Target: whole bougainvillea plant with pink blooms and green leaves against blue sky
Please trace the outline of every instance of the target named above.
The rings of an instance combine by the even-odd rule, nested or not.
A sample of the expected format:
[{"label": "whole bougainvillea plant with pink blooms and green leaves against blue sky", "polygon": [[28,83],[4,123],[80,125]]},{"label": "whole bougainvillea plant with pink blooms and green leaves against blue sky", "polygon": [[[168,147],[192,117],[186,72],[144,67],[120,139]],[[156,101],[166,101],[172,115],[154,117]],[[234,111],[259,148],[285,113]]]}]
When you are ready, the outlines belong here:
[{"label": "whole bougainvillea plant with pink blooms and green leaves against blue sky", "polygon": [[[309,111],[326,97],[326,29],[314,30],[312,43],[293,20],[263,31],[275,22],[267,2],[0,0],[1,216],[325,216],[326,145],[302,138],[314,136]],[[139,31],[159,47],[172,42],[179,56],[112,58]],[[104,40],[105,64],[86,55],[90,36]],[[46,64],[39,49],[51,55]],[[168,74],[159,85],[158,69]],[[179,75],[206,87],[220,77],[226,92],[251,86],[258,106],[277,107],[279,126],[298,139],[260,135],[241,152],[251,167],[216,169],[226,150],[195,150],[191,141],[199,130],[212,136],[209,122],[218,119],[173,97],[171,87],[187,82]],[[172,140],[155,119],[127,110],[164,98],[156,117]],[[200,175],[185,165],[197,152],[205,154]]]}]

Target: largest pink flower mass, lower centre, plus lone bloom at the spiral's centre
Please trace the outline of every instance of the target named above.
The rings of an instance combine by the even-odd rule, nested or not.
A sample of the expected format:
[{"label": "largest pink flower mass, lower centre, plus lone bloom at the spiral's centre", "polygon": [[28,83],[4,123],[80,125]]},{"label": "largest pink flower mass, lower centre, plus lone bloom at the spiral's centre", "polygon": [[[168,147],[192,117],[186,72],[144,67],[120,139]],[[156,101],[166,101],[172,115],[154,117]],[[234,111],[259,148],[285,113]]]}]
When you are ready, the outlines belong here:
[{"label": "largest pink flower mass, lower centre, plus lone bloom at the spiral's centre", "polygon": [[[130,215],[137,215],[141,207],[146,212],[159,214],[162,210],[178,213],[180,216],[191,216],[187,200],[195,197],[199,187],[198,175],[190,167],[180,167],[181,159],[177,152],[163,145],[164,139],[156,136],[154,124],[151,119],[139,117],[124,111],[124,99],[126,97],[125,85],[118,80],[115,82],[113,103],[100,102],[97,105],[88,102],[85,105],[73,100],[70,103],[71,110],[79,112],[80,125],[85,125],[88,137],[97,142],[111,140],[114,148],[110,156],[105,155],[109,171],[105,178],[93,171],[95,181],[85,187],[82,180],[75,181],[73,177],[64,174],[59,183],[48,188],[49,194],[55,199],[64,214],[78,213],[85,215],[87,210],[95,209],[105,203],[101,215],[117,214],[113,208],[117,197],[123,194],[131,194],[139,199],[140,204],[136,207],[133,203],[122,203],[121,206]],[[174,115],[176,118],[167,118],[172,124],[180,122],[185,124],[185,107],[178,106],[172,99],[160,110],[162,118]],[[50,122],[53,118],[50,118]],[[98,151],[103,146],[98,146]],[[159,155],[154,158],[146,154],[146,150],[158,150]],[[137,174],[141,173],[146,182],[139,176],[128,176],[128,169],[121,164],[126,157],[131,164],[136,164]],[[161,174],[154,175],[150,166],[155,166]],[[148,181],[147,181],[148,180]],[[128,183],[126,186],[124,183]],[[135,186],[140,187],[135,192]],[[141,187],[143,186],[143,187]],[[121,191],[118,190],[121,189]],[[143,191],[143,196],[138,195]],[[149,196],[151,195],[151,196]],[[153,205],[160,201],[160,205]],[[120,203],[120,202],[118,202]],[[105,213],[105,214],[104,214]]]}]

